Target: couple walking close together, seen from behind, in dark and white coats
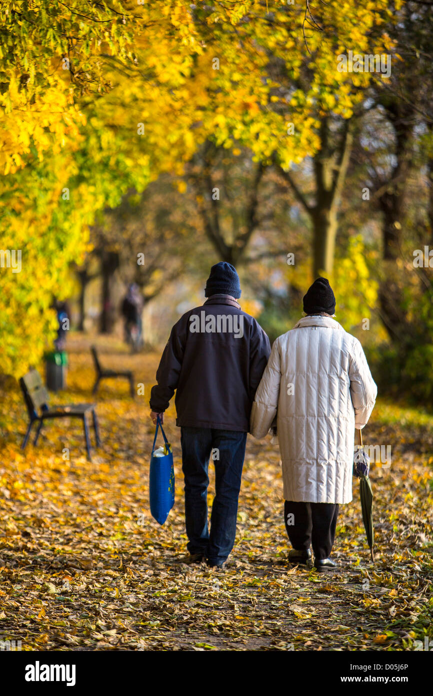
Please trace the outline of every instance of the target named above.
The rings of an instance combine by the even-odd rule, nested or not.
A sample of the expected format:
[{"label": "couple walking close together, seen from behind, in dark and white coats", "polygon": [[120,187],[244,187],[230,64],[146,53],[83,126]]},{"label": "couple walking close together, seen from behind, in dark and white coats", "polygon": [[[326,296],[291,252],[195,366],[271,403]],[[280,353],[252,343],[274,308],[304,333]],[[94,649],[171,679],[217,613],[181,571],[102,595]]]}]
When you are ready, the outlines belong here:
[{"label": "couple walking close together, seen from behind, in dark and white coats", "polygon": [[[366,425],[377,388],[357,338],[332,318],[335,297],[318,278],[307,315],[275,340],[243,312],[231,264],[211,268],[204,305],[174,324],[156,372],[151,418],[176,390],[185,477],[188,562],[222,567],[234,546],[247,433],[263,438],[277,418],[288,560],[332,570],[338,505],[352,500],[354,429]],[[199,317],[199,319],[197,319]],[[208,466],[215,498],[208,525]]]}]

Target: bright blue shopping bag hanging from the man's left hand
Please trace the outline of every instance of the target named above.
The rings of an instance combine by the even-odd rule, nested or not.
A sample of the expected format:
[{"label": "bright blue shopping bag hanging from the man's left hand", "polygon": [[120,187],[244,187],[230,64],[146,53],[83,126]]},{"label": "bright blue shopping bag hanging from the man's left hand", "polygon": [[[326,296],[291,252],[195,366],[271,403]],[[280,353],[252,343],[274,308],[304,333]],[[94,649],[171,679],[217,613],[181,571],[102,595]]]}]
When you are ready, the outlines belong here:
[{"label": "bright blue shopping bag hanging from the man's left hand", "polygon": [[[155,451],[158,452],[158,450],[162,449],[158,448],[158,450],[155,450],[158,427],[161,428],[165,443],[162,457],[155,455]],[[161,452],[158,452],[158,454],[161,454]],[[150,458],[149,498],[152,517],[160,524],[163,524],[174,505],[174,466],[172,445],[170,445],[165,437],[165,432],[163,431],[159,416],[156,420],[154,444],[152,446],[152,456]]]}]

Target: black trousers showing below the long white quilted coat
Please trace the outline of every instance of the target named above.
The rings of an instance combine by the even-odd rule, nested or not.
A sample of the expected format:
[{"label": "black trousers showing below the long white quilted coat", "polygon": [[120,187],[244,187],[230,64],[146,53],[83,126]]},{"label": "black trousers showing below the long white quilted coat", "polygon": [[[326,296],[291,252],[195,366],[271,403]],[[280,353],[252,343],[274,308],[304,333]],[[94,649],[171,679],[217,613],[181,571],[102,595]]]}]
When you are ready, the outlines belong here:
[{"label": "black trousers showing below the long white quilted coat", "polygon": [[[293,515],[293,517],[292,517]],[[314,557],[329,557],[335,539],[338,505],[284,501],[287,536],[297,551],[313,546]]]}]

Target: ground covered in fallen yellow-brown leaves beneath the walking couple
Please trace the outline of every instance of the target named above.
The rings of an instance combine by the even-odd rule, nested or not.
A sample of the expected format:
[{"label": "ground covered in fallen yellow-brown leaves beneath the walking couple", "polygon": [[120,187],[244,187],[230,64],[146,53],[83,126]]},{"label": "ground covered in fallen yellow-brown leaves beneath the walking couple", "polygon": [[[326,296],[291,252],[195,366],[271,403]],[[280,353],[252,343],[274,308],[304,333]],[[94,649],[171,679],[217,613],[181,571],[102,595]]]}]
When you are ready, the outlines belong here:
[{"label": "ground covered in fallen yellow-brown leaves beneath the walking couple", "polygon": [[[0,456],[0,640],[22,649],[402,650],[431,634],[433,418],[380,402],[366,443],[391,445],[374,466],[376,562],[365,544],[356,484],[341,508],[324,576],[286,562],[277,445],[249,436],[236,546],[223,572],[182,562],[183,482],[174,410],[176,503],[160,527],[149,514],[153,426],[148,394],[158,355],[120,354],[99,338],[101,360],[129,365],[145,395],[106,383],[97,398],[104,445],[90,464],[80,429],[49,425],[19,450],[24,409],[6,383]],[[89,341],[70,338],[69,390],[91,400]],[[63,450],[70,449],[70,460]],[[209,503],[213,496],[213,473]],[[430,635],[433,638],[433,635]]]}]

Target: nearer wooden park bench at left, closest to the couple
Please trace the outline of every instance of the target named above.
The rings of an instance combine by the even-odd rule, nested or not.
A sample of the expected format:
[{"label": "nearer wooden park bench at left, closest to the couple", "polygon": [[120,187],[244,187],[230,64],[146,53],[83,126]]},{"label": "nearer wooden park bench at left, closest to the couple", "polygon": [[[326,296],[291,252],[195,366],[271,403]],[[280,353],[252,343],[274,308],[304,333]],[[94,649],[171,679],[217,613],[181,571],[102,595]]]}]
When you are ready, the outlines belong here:
[{"label": "nearer wooden park bench at left, closest to the couple", "polygon": [[31,370],[30,372],[27,372],[24,377],[21,377],[19,384],[22,388],[22,393],[24,394],[28,417],[30,418],[26,434],[24,435],[24,440],[22,441],[22,450],[24,450],[26,447],[34,422],[38,421],[39,423],[38,430],[36,431],[35,439],[33,441],[33,444],[37,445],[40,431],[42,430],[42,425],[44,424],[45,420],[48,420],[49,418],[80,418],[84,425],[85,445],[87,448],[88,459],[92,461],[92,457],[90,455],[90,436],[86,416],[88,413],[92,413],[96,446],[99,447],[99,445],[101,445],[101,441],[99,439],[99,428],[95,404],[67,404],[66,406],[56,405],[50,408],[49,394],[42,383],[38,370]]}]

